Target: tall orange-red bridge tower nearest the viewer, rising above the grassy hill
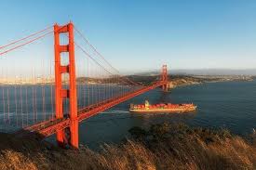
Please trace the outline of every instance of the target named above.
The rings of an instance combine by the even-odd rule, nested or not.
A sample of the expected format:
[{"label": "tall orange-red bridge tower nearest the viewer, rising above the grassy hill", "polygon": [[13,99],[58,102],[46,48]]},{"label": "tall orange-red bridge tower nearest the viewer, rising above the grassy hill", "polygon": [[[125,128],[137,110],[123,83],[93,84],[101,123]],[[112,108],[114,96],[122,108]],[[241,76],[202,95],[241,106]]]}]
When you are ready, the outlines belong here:
[{"label": "tall orange-red bridge tower nearest the viewer, rising above the grassy hill", "polygon": [[[68,34],[68,45],[60,45],[60,34]],[[78,119],[77,119],[77,96],[75,83],[74,65],[74,25],[72,22],[59,26],[54,25],[54,51],[55,51],[55,114],[57,119],[63,115],[63,99],[69,99],[69,119],[70,126],[66,129],[57,130],[57,142],[59,145],[66,144],[73,148],[78,148]],[[61,65],[61,53],[69,54],[69,63]],[[61,74],[69,74],[69,85],[63,88]],[[68,132],[68,133],[67,133]],[[68,137],[70,136],[70,137]]]}]

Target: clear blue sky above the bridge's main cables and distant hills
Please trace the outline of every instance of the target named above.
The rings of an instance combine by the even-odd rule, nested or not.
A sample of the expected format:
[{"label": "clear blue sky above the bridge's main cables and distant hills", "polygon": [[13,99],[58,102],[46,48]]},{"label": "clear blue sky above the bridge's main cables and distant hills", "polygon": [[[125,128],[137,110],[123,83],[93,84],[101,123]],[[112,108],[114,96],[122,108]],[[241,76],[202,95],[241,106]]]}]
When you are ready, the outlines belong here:
[{"label": "clear blue sky above the bridge's main cables and distant hills", "polygon": [[[121,72],[164,63],[171,69],[256,68],[255,0],[3,0],[0,8],[0,46],[72,20]],[[47,48],[37,52],[47,54]]]}]

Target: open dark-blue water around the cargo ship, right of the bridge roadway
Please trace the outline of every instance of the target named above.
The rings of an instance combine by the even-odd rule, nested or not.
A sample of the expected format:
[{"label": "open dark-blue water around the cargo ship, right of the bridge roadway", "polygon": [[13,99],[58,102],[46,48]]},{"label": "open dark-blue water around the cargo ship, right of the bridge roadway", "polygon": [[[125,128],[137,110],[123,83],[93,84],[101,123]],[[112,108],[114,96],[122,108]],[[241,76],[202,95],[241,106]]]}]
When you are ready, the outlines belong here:
[{"label": "open dark-blue water around the cargo ship, right of the bridge roadway", "polygon": [[[194,102],[198,109],[188,113],[129,113],[130,103],[148,99],[159,102]],[[133,126],[179,122],[193,126],[227,128],[238,135],[251,133],[256,127],[256,81],[220,82],[181,86],[163,93],[155,89],[104,111],[79,126],[80,143],[97,148],[102,143],[116,143],[128,137]]]}]

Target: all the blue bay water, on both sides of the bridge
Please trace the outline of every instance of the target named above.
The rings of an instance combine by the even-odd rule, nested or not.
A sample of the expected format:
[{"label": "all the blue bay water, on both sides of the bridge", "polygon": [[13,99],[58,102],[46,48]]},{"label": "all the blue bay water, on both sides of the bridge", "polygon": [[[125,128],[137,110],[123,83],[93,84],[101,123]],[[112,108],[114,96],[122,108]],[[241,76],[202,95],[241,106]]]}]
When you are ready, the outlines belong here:
[{"label": "all the blue bay water, on both sides of the bridge", "polygon": [[[79,87],[78,106],[87,106],[95,93],[102,96],[102,85]],[[115,91],[118,86],[110,86]],[[128,89],[127,89],[128,90]],[[36,91],[36,93],[35,93]],[[8,93],[8,95],[7,95]],[[54,89],[51,85],[1,85],[0,129],[11,130],[16,126],[34,124],[54,116]],[[82,94],[89,94],[84,98]],[[45,97],[45,98],[42,98]],[[7,103],[9,98],[9,103]],[[99,98],[98,98],[99,99]],[[100,98],[101,99],[101,98]],[[188,113],[129,113],[130,103],[194,102],[198,109]],[[90,103],[88,103],[88,101]],[[102,143],[116,143],[128,137],[133,126],[148,127],[164,122],[185,123],[194,126],[228,128],[238,135],[251,133],[256,128],[256,81],[222,82],[188,85],[164,93],[160,88],[132,98],[114,108],[85,120],[79,124],[79,141],[90,148],[99,148]],[[43,107],[42,107],[43,106]],[[37,108],[34,111],[34,108]],[[7,114],[8,112],[8,114]],[[8,118],[9,117],[9,118]],[[54,140],[55,137],[50,137]]]}]

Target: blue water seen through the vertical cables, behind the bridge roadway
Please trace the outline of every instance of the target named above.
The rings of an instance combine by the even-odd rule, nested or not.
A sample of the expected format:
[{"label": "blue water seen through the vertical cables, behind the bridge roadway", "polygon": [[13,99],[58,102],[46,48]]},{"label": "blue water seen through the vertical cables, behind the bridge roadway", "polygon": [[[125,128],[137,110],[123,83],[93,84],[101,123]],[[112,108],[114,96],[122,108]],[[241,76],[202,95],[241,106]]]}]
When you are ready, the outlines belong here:
[{"label": "blue water seen through the vertical cables, behind the bridge roadway", "polygon": [[[64,85],[67,89],[68,86]],[[77,85],[77,108],[128,92],[130,85]],[[55,90],[46,85],[0,85],[0,131],[13,132],[55,116]],[[69,112],[69,99],[63,98],[63,112]]]}]

